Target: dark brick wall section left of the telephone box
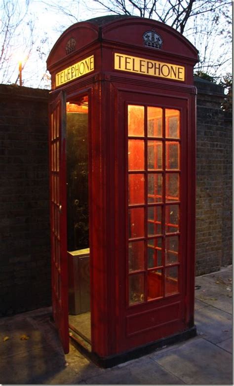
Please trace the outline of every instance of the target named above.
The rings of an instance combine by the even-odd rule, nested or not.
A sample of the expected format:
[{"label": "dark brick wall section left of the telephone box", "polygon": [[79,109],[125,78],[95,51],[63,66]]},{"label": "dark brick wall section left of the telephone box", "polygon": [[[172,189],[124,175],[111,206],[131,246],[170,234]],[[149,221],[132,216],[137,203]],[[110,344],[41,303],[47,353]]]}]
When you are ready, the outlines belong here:
[{"label": "dark brick wall section left of the telephone box", "polygon": [[0,85],[0,316],[51,304],[47,103]]}]

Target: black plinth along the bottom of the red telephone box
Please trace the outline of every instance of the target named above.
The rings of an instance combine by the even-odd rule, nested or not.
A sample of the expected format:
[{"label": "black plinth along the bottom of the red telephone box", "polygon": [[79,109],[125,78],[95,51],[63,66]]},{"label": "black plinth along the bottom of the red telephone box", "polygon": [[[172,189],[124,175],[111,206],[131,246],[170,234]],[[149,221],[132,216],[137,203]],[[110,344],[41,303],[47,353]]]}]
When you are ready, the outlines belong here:
[{"label": "black plinth along the bottom of the red telephone box", "polygon": [[87,345],[84,344],[82,340],[80,340],[79,338],[77,339],[76,336],[70,335],[72,343],[79,350],[79,352],[81,352],[81,354],[92,360],[96,365],[103,368],[116,366],[120,363],[127,362],[128,360],[136,359],[141,356],[150,354],[157,348],[162,348],[163,346],[169,346],[175,343],[183,342],[187,339],[194,338],[195,336],[196,326],[193,326],[188,330],[179,332],[166,338],[159,339],[158,341],[152,342],[145,346],[136,347],[134,349],[116,355],[100,357],[95,352],[92,352],[90,349],[91,347],[87,347]]}]

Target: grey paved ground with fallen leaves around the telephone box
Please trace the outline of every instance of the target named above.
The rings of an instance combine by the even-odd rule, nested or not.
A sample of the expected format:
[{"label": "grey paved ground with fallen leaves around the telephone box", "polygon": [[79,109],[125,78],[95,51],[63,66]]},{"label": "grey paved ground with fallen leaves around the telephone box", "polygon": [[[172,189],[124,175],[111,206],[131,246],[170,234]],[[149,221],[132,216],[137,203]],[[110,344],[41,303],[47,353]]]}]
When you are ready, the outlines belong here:
[{"label": "grey paved ground with fallen leaves around the telephone box", "polygon": [[72,345],[63,354],[51,308],[1,318],[0,383],[233,385],[232,279],[232,266],[196,277],[197,337],[111,369],[98,368]]}]

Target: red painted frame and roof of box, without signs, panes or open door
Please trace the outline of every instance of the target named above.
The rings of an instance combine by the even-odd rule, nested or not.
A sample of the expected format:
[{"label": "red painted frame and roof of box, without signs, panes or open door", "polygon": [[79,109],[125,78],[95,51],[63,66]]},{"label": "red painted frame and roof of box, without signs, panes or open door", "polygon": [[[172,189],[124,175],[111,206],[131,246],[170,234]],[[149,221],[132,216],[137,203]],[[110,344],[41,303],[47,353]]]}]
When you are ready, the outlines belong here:
[{"label": "red painted frame and roof of box, without signs, panes or open door", "polygon": [[[142,33],[152,28],[163,37],[161,50],[143,46]],[[66,55],[65,47],[71,37],[77,40],[77,46],[74,52]],[[114,70],[114,52],[183,65],[185,81]],[[57,72],[92,54],[95,62],[93,73],[55,88]],[[91,339],[92,351],[99,357],[148,344],[194,325],[196,90],[193,66],[196,61],[195,48],[172,28],[134,17],[109,23],[107,20],[100,25],[95,20],[77,23],[59,38],[47,60],[52,76],[51,102],[61,90],[66,92],[67,100],[78,94],[88,94],[89,97]],[[184,277],[182,295],[131,307],[126,304],[125,258],[127,103],[182,109],[181,245],[186,261],[181,268]],[[66,270],[66,261],[64,267]],[[64,283],[64,297],[66,285]],[[150,318],[153,323],[157,318],[170,317],[166,311],[170,302],[170,314],[179,313],[183,320],[151,328],[147,324]]]}]

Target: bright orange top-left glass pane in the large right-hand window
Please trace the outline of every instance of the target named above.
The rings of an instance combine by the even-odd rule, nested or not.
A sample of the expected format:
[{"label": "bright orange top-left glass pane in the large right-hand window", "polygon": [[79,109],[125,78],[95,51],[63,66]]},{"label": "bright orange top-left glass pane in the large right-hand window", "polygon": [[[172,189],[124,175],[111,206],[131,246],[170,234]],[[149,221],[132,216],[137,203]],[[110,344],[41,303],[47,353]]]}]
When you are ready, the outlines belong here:
[{"label": "bright orange top-left glass pane in the large right-hand window", "polygon": [[144,106],[128,105],[128,135],[144,137]]}]

